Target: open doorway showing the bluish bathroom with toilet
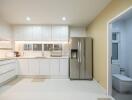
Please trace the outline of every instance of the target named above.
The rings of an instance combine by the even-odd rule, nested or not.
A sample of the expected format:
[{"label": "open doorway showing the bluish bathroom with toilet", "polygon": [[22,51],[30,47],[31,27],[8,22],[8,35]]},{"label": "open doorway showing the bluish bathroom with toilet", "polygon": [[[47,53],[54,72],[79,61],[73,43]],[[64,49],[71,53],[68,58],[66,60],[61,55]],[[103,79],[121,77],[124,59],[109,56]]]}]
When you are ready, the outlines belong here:
[{"label": "open doorway showing the bluish bathroom with toilet", "polygon": [[131,100],[132,7],[107,25],[107,94],[116,100]]}]

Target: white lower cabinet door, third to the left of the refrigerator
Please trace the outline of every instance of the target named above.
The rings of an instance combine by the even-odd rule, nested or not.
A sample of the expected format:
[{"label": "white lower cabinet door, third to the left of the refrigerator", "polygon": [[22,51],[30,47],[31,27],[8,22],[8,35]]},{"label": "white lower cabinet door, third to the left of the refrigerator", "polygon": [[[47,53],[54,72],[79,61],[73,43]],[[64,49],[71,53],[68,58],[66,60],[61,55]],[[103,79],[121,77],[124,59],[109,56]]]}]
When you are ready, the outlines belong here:
[{"label": "white lower cabinet door, third to the left of the refrigerator", "polygon": [[50,59],[40,59],[39,67],[40,75],[50,75]]}]

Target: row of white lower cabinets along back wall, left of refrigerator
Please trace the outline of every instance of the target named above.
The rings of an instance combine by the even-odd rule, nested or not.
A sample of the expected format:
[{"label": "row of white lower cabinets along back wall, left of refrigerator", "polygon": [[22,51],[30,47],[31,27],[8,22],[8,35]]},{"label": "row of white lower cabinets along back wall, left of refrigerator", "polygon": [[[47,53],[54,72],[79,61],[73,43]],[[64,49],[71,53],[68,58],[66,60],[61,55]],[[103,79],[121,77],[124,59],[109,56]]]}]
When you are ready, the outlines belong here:
[{"label": "row of white lower cabinets along back wall, left of refrigerator", "polygon": [[68,58],[18,59],[18,67],[18,75],[68,77],[69,61]]}]

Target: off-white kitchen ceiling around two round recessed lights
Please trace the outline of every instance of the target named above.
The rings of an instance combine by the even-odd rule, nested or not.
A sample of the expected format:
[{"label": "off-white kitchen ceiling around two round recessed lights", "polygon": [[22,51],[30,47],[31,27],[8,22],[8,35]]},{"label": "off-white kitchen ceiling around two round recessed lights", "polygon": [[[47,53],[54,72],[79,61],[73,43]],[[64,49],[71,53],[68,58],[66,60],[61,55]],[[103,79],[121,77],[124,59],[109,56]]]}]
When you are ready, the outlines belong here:
[{"label": "off-white kitchen ceiling around two round recessed lights", "polygon": [[[87,25],[111,0],[0,0],[0,15],[10,24]],[[26,17],[31,21],[26,21]],[[67,18],[62,21],[62,17]]]}]

